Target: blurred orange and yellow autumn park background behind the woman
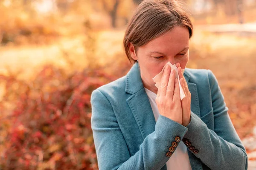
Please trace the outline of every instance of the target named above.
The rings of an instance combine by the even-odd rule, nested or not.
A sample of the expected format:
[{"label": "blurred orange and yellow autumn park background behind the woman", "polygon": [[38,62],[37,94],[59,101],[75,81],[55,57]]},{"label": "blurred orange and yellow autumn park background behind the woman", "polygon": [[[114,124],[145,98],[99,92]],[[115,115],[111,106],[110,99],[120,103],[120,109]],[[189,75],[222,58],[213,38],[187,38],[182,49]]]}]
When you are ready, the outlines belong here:
[{"label": "blurred orange and yellow autumn park background behind the woman", "polygon": [[[256,170],[256,0],[184,0],[188,68],[210,69]],[[0,0],[0,170],[97,170],[90,94],[124,76],[140,0]]]}]

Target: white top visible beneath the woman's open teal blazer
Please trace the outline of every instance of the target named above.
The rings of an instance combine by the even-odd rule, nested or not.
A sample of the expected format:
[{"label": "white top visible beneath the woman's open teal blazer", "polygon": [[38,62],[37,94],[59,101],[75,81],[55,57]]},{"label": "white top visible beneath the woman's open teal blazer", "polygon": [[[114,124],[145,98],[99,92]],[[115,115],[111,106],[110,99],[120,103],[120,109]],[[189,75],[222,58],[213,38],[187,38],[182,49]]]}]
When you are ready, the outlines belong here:
[{"label": "white top visible beneath the woman's open teal blazer", "polygon": [[[148,90],[147,88],[145,88],[145,91],[148,95],[148,99],[149,99],[152,111],[154,113],[154,118],[156,119],[156,122],[157,122],[157,119],[159,117],[159,111],[156,103],[157,94]],[[190,161],[189,161],[187,147],[182,141],[180,141],[176,150],[174,151],[170,159],[167,161],[166,165],[167,165],[167,170],[192,170]]]}]

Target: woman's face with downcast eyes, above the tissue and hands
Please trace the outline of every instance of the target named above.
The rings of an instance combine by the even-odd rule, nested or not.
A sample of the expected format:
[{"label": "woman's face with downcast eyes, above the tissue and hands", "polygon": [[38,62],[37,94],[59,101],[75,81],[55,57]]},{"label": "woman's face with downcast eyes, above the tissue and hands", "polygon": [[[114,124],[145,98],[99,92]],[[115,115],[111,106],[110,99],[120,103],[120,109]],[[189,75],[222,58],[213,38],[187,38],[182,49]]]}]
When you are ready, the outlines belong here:
[{"label": "woman's face with downcast eyes, above the tissue and hands", "polygon": [[144,87],[157,94],[157,87],[152,78],[162,71],[167,62],[179,62],[180,67],[185,69],[189,61],[189,30],[183,26],[175,26],[174,29],[139,47],[137,53],[130,44],[129,51],[131,57],[140,65]]}]

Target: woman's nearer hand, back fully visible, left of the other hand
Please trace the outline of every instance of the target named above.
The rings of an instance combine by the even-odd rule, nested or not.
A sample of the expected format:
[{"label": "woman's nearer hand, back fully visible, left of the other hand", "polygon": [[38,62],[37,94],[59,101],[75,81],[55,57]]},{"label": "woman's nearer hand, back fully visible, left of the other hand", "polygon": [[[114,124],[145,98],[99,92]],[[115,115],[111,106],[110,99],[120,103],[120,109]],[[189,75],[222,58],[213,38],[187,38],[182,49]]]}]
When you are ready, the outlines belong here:
[{"label": "woman's nearer hand, back fully visible, left of the other hand", "polygon": [[161,115],[182,124],[182,108],[180,102],[180,89],[175,70],[169,65],[163,71],[161,85],[157,91],[157,108]]}]

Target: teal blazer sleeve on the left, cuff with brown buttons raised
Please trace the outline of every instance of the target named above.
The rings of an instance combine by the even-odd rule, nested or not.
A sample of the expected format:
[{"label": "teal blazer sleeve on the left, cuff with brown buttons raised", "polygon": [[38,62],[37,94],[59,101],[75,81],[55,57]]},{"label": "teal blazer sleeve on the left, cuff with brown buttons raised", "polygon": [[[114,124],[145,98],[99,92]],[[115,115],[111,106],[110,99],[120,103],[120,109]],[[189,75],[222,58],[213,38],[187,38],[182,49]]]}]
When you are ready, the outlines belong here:
[{"label": "teal blazer sleeve on the left, cuff with brown buttons raised", "polygon": [[160,115],[155,131],[146,136],[140,144],[140,150],[131,156],[111,102],[105,94],[98,89],[93,91],[91,104],[91,127],[99,170],[160,170],[170,158],[166,153],[175,137],[180,136],[181,142],[188,130],[172,119]]}]

